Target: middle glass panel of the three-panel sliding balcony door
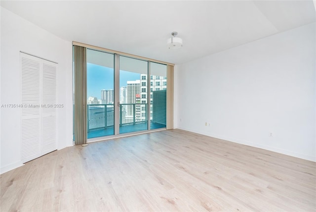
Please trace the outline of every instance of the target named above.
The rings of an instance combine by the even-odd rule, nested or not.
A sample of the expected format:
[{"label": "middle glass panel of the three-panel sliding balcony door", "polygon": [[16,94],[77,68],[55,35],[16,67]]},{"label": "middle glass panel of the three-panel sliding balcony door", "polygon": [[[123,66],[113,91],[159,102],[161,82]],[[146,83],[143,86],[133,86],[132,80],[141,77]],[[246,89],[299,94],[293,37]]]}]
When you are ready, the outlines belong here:
[{"label": "middle glass panel of the three-panel sliding balcony door", "polygon": [[148,62],[119,57],[119,133],[148,129]]}]

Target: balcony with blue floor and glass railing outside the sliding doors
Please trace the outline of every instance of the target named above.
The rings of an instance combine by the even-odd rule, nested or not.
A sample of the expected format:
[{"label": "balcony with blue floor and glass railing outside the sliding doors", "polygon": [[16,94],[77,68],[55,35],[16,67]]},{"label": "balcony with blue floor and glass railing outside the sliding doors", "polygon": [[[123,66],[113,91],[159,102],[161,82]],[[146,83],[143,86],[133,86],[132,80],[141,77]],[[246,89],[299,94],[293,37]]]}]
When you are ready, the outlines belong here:
[{"label": "balcony with blue floor and glass railing outside the sliding doors", "polygon": [[[152,108],[152,104],[151,104]],[[152,117],[160,116],[152,113]],[[120,104],[119,133],[147,130],[147,103]],[[155,119],[154,119],[155,120]],[[164,128],[151,118],[150,129]],[[88,138],[114,134],[114,104],[87,105]]]}]

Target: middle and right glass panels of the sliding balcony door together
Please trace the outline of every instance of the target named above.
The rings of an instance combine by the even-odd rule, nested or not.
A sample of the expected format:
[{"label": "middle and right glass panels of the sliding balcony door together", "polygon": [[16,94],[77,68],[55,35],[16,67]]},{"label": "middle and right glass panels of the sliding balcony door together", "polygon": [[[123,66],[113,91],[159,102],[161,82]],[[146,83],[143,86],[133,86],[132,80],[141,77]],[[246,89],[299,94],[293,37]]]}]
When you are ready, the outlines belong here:
[{"label": "middle and right glass panels of the sliding balcony door together", "polygon": [[119,133],[165,128],[167,66],[120,56],[119,69]]}]

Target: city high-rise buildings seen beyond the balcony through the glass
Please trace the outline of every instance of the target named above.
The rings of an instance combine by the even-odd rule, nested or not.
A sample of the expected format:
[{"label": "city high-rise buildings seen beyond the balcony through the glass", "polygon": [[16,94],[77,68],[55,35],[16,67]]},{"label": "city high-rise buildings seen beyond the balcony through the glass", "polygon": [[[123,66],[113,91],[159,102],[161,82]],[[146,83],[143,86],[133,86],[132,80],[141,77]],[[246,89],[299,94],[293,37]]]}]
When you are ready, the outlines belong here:
[{"label": "city high-rise buildings seen beyond the balcony through the glass", "polygon": [[[151,75],[148,79],[147,74],[141,74],[140,80],[127,81],[127,86],[120,87],[120,123],[125,125],[134,122],[146,122],[147,118],[150,117],[150,120],[155,118],[155,123],[165,125],[165,116],[161,116],[161,113],[165,112],[163,108],[166,101],[163,99],[166,98],[166,81],[167,79],[164,76]],[[150,87],[148,87],[148,83],[150,83]],[[87,99],[87,105],[90,108],[88,109],[89,120],[91,121],[89,123],[91,127],[93,126],[92,128],[104,125],[104,121],[110,123],[113,121],[114,90],[102,89],[100,92],[102,93],[101,99],[97,99],[97,97],[88,97]],[[105,108],[107,108],[107,113],[105,113]],[[156,111],[155,116],[154,111]]]}]

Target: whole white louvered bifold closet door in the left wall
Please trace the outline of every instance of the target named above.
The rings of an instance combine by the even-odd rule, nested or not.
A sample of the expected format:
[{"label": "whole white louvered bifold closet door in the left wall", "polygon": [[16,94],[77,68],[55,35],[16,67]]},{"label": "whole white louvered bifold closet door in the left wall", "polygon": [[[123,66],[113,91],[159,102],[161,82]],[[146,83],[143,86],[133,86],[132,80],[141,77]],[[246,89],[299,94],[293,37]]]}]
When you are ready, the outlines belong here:
[{"label": "whole white louvered bifold closet door in the left wall", "polygon": [[21,144],[26,163],[57,149],[57,64],[21,54]]}]

